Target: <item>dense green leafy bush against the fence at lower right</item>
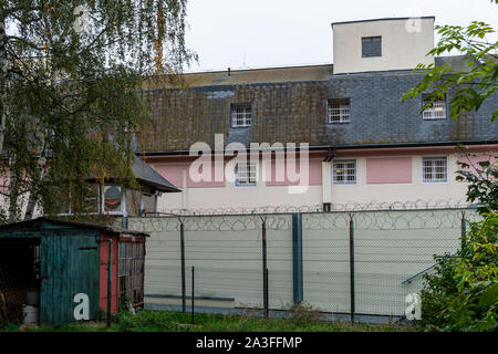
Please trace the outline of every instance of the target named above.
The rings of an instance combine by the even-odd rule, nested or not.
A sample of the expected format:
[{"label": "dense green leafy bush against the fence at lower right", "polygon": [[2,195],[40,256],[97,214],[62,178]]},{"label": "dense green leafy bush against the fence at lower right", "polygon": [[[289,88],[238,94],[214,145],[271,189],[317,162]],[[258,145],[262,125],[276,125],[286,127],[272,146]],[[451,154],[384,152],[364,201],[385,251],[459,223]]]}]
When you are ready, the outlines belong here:
[{"label": "dense green leafy bush against the fence at lower right", "polygon": [[437,258],[421,293],[426,330],[491,331],[498,309],[498,214],[470,223],[456,257]]}]

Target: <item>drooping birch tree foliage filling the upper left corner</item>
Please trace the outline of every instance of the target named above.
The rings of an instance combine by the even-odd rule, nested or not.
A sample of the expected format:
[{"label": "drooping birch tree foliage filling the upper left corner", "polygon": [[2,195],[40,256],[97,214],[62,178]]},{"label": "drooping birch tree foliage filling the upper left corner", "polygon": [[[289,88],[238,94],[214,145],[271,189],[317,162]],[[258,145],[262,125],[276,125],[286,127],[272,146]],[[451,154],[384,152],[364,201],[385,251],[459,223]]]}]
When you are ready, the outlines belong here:
[{"label": "drooping birch tree foliage filling the upper left corner", "polygon": [[[157,72],[156,43],[164,51],[162,73],[181,72],[196,59],[185,45],[186,3],[1,1],[10,32],[0,53],[9,62],[9,71],[0,72],[0,83],[9,84],[0,94],[7,126],[0,150],[10,164],[0,168],[11,175],[12,208],[4,212],[11,220],[22,218],[27,198],[58,214],[69,201],[62,198],[77,198],[75,189],[90,177],[132,183],[134,134],[148,123],[142,85]],[[76,31],[82,12],[74,10],[82,7],[89,25]]]}]

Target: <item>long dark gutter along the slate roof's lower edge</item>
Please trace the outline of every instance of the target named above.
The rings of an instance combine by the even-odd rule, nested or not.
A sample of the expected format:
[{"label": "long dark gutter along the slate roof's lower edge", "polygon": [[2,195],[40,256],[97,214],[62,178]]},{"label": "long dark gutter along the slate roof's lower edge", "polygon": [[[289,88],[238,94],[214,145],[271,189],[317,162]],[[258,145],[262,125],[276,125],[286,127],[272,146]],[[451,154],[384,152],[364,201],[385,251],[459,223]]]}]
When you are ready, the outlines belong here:
[{"label": "long dark gutter along the slate roof's lower edge", "polygon": [[[365,145],[317,145],[310,146],[310,152],[317,150],[347,150],[347,149],[362,149],[362,148],[393,148],[393,147],[427,147],[427,146],[453,146],[453,145],[492,145],[498,144],[498,140],[457,140],[457,142],[429,142],[429,143],[401,143],[401,144],[365,144]],[[287,148],[269,148],[269,149],[253,149],[247,148],[247,152],[278,152],[286,150]],[[300,147],[295,146],[297,150]],[[227,152],[224,149],[224,153]],[[137,156],[175,156],[175,155],[190,155],[189,150],[158,150],[158,152],[141,152],[136,153]]]}]

